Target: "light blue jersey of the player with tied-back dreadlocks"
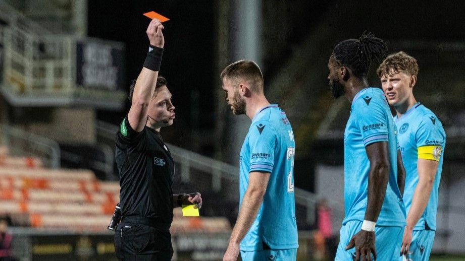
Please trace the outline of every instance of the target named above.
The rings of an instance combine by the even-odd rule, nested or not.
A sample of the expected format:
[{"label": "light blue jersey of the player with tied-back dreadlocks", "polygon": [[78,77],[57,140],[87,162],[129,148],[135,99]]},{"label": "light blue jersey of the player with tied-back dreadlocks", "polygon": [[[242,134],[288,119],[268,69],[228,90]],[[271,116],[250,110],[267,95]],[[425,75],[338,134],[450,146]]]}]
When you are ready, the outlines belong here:
[{"label": "light blue jersey of the player with tied-back dreadlocks", "polygon": [[397,185],[396,128],[384,93],[365,88],[353,98],[344,132],[344,204],[345,225],[365,218],[368,201],[370,161],[365,147],[388,142],[389,181],[377,226],[405,226],[405,207]]}]

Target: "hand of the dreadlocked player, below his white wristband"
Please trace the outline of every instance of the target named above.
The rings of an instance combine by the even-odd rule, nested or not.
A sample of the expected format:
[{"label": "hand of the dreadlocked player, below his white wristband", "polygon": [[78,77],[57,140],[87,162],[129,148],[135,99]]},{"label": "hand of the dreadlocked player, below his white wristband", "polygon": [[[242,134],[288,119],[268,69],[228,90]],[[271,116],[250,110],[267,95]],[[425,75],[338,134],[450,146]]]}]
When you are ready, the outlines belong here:
[{"label": "hand of the dreadlocked player, below his white wristband", "polygon": [[371,253],[376,260],[375,250],[375,232],[366,230],[360,230],[356,233],[349,241],[349,244],[345,247],[348,250],[355,246],[355,259],[359,260],[370,260],[372,261]]}]

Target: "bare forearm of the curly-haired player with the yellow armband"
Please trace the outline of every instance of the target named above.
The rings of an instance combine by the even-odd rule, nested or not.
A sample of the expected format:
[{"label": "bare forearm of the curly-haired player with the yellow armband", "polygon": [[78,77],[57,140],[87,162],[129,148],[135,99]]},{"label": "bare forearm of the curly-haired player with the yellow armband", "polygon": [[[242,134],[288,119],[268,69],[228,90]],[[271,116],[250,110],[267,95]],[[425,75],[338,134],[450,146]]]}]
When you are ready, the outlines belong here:
[{"label": "bare forearm of the curly-haired player with the yellow armband", "polygon": [[410,210],[407,214],[407,228],[413,229],[420,220],[430,199],[433,181],[430,179],[419,179],[415,187],[414,197],[411,201]]}]

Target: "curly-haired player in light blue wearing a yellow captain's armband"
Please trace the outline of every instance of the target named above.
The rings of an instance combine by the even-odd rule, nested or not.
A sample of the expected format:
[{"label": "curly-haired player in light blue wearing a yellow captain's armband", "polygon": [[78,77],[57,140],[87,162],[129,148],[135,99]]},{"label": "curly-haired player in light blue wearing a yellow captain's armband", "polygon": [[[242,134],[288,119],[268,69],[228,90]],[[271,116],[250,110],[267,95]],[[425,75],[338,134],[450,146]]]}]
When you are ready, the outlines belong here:
[{"label": "curly-haired player in light blue wearing a yellow captain's armband", "polygon": [[403,200],[408,214],[400,254],[408,260],[428,260],[436,231],[446,135],[436,115],[415,99],[418,64],[414,57],[405,52],[391,54],[377,74],[396,111],[394,122],[407,173]]}]

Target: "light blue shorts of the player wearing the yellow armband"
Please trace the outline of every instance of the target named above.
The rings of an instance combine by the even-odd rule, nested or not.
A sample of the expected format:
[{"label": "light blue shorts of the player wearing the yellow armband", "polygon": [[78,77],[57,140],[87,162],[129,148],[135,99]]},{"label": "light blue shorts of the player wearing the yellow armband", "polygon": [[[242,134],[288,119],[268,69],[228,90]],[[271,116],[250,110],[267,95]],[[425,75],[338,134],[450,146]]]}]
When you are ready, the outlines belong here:
[{"label": "light blue shorts of the player wearing the yellow armband", "polygon": [[[431,248],[433,247],[433,230],[414,230],[411,237],[411,244],[408,254],[400,257],[401,261],[428,261],[430,259]],[[402,244],[400,239],[399,244]]]}]

